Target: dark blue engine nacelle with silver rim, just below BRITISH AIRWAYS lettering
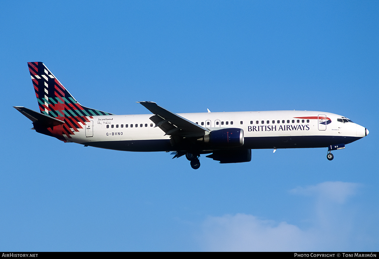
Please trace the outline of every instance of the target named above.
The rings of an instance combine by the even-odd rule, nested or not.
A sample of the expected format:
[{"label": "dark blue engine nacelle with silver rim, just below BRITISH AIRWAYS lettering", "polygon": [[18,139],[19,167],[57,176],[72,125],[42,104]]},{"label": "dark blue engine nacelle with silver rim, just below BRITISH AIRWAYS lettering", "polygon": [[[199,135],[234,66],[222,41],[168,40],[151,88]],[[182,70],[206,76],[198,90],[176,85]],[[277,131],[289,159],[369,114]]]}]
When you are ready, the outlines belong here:
[{"label": "dark blue engine nacelle with silver rim, just below BRITISH AIRWAYS lettering", "polygon": [[215,147],[240,147],[243,146],[243,129],[227,128],[212,130],[204,136],[204,142]]}]

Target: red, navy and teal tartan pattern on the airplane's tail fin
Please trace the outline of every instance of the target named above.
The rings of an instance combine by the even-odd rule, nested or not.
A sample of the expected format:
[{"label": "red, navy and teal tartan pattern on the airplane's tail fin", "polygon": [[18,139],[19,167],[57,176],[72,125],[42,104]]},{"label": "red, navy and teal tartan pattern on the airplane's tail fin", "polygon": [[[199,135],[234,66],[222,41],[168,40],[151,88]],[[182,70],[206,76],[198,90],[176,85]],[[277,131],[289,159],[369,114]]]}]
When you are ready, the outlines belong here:
[{"label": "red, navy and teal tartan pattern on the airplane's tail fin", "polygon": [[28,67],[40,112],[65,122],[55,126],[61,127],[60,135],[71,138],[70,135],[84,127],[88,118],[113,115],[80,105],[42,62],[28,62]]}]

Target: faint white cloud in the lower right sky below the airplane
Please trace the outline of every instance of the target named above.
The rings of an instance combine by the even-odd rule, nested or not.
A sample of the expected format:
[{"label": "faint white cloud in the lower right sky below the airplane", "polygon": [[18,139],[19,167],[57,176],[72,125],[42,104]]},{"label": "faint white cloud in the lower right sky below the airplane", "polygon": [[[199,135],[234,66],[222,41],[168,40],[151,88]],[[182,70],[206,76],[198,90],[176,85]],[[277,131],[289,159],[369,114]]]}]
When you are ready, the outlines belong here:
[{"label": "faint white cloud in the lower right sky below the airplane", "polygon": [[357,183],[325,182],[295,188],[293,194],[314,197],[311,226],[301,229],[287,222],[236,214],[208,217],[201,241],[207,251],[336,251],[351,250],[354,212],[346,202]]}]

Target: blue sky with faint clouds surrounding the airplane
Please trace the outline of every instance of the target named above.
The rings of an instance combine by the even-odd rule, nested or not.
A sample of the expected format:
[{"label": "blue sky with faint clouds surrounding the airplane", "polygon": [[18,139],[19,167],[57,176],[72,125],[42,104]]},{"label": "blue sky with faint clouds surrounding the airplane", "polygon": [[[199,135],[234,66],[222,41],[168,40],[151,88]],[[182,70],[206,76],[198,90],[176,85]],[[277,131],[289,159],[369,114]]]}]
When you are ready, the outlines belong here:
[{"label": "blue sky with faint clouds surrounding the airplane", "polygon": [[[2,251],[377,251],[376,1],[6,2]],[[327,149],[252,150],[252,161],[63,143],[38,110],[27,62],[82,104],[115,114],[316,110],[370,135]]]}]

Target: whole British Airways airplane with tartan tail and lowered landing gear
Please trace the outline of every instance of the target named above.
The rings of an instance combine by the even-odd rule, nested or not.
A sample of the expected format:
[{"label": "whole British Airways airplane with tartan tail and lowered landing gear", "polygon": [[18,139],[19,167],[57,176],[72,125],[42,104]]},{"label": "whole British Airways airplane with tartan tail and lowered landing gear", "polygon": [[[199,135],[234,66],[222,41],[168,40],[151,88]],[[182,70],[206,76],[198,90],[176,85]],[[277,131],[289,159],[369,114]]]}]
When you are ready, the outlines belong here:
[{"label": "whole British Airways airplane with tartan tail and lowered landing gear", "polygon": [[219,163],[251,161],[251,149],[328,147],[332,150],[368,135],[350,119],[329,112],[257,111],[173,113],[155,102],[137,102],[152,114],[115,115],[80,105],[42,62],[28,62],[39,110],[14,106],[36,132],[85,147],[172,152],[193,169],[199,157]]}]

